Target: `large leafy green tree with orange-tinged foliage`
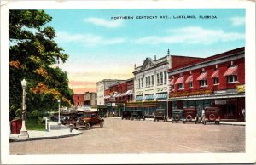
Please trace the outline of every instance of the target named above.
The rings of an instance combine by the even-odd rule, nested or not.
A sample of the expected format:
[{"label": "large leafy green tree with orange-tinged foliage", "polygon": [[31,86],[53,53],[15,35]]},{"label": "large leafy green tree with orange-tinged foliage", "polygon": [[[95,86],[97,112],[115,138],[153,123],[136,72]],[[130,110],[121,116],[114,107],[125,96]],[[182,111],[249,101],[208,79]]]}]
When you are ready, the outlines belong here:
[{"label": "large leafy green tree with orange-tinged foliage", "polygon": [[9,117],[20,117],[22,87],[27,81],[26,114],[42,117],[47,111],[73,103],[67,72],[55,65],[68,55],[55,43],[55,30],[47,26],[51,17],[44,10],[9,11]]}]

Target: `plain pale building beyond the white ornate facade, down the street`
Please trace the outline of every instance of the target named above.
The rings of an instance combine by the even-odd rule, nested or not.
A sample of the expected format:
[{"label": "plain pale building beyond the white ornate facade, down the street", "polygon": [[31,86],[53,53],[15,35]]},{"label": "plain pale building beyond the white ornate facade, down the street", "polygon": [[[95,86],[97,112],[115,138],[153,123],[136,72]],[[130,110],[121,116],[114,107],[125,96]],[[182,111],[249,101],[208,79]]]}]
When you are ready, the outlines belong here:
[{"label": "plain pale building beyond the white ornate facade, down the street", "polygon": [[103,80],[96,83],[96,90],[97,90],[97,94],[96,94],[97,103],[96,103],[96,105],[97,105],[97,109],[99,111],[102,111],[103,109],[106,110],[105,100],[104,100],[105,89],[108,88],[113,83],[121,83],[121,82],[124,82],[124,80],[103,79]]}]

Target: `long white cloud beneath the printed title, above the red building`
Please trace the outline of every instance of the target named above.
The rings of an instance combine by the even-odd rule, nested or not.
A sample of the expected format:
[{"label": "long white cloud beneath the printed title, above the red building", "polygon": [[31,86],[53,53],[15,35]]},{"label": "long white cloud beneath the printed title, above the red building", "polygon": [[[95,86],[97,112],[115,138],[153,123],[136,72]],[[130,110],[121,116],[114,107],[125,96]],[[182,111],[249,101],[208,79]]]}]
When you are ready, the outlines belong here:
[{"label": "long white cloud beneath the printed title, above the red building", "polygon": [[225,32],[223,30],[204,29],[198,26],[190,26],[167,31],[165,36],[149,36],[134,40],[140,44],[160,44],[160,43],[183,43],[183,44],[212,44],[217,42],[228,42],[244,39],[243,33]]}]

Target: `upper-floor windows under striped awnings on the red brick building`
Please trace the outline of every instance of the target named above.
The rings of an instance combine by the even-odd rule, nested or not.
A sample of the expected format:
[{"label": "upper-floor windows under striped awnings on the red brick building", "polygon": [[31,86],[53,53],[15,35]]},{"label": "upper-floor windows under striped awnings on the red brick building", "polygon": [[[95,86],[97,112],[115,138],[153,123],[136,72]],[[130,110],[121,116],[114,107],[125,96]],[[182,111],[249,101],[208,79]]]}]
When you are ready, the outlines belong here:
[{"label": "upper-floor windows under striped awnings on the red brick building", "polygon": [[[227,83],[236,83],[237,82],[237,75],[230,75],[227,76]],[[200,87],[207,87],[207,80],[199,80]],[[213,85],[218,85],[218,78],[213,78]],[[174,85],[170,86],[171,90],[174,90]],[[193,88],[193,82],[189,82],[189,88]],[[181,90],[184,89],[184,83],[178,83],[177,89]]]}]

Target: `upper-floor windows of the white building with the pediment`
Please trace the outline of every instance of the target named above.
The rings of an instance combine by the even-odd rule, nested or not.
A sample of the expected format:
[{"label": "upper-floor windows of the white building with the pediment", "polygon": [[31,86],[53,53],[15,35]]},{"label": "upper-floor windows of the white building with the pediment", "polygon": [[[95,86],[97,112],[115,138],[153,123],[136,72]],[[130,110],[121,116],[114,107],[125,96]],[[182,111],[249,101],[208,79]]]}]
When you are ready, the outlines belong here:
[{"label": "upper-floor windows of the white building with the pediment", "polygon": [[[167,71],[160,72],[156,74],[156,83],[157,85],[162,85],[167,83],[167,77],[168,73]],[[145,77],[145,81],[143,81],[143,78],[138,78],[136,80],[136,88],[143,88],[143,84],[145,83],[145,87],[152,87],[154,86],[154,75],[150,75],[148,77]]]}]

